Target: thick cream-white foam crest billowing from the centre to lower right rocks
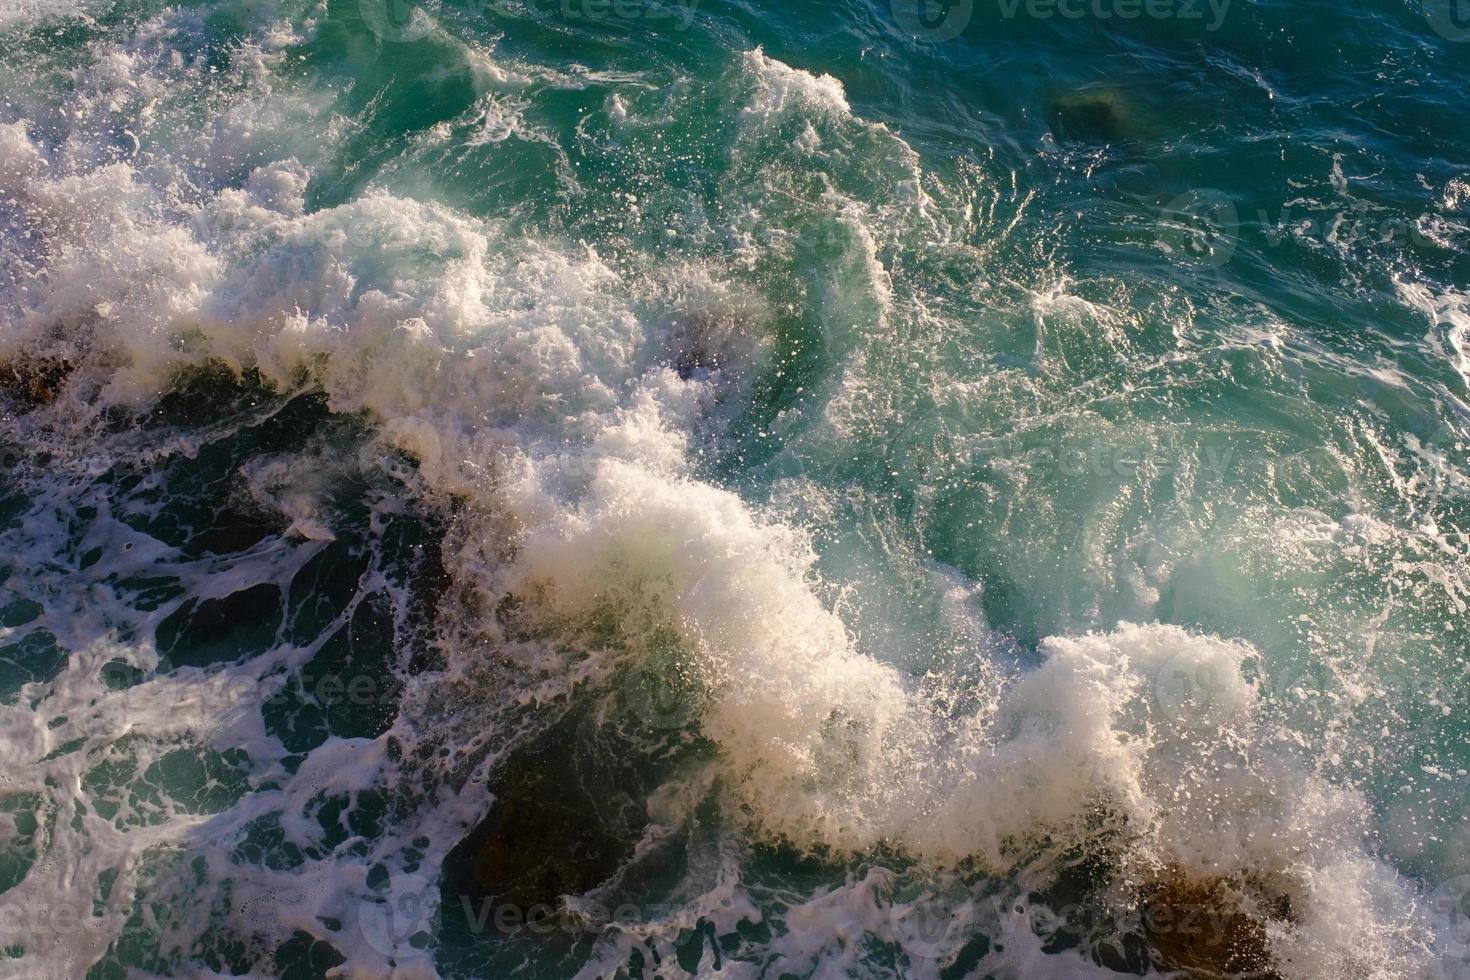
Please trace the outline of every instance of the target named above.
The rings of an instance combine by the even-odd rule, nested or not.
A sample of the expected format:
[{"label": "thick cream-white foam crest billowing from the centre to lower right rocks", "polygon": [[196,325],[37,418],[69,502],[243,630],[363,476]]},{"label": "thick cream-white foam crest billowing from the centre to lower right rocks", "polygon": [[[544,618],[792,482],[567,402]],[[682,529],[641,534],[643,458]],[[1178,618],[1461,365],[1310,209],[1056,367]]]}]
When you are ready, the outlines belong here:
[{"label": "thick cream-white foam crest billowing from the centre to lower right rocks", "polygon": [[[734,495],[609,460],[573,510],[522,538],[507,585],[563,638],[612,617],[647,655],[675,630],[736,798],[798,846],[886,842],[1007,870],[1113,833],[1135,883],[1173,868],[1289,902],[1267,936],[1292,976],[1421,948],[1405,886],[1367,857],[1366,802],[1313,776],[1258,717],[1248,646],[1169,626],[1053,638],[995,723],[970,723],[857,655],[808,564],[800,538]],[[1333,924],[1344,917],[1394,939],[1366,949]]]}]

